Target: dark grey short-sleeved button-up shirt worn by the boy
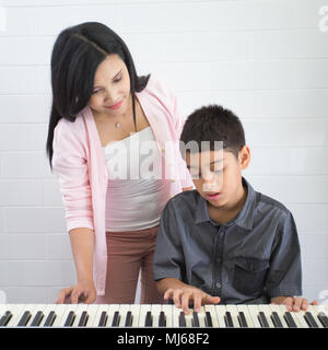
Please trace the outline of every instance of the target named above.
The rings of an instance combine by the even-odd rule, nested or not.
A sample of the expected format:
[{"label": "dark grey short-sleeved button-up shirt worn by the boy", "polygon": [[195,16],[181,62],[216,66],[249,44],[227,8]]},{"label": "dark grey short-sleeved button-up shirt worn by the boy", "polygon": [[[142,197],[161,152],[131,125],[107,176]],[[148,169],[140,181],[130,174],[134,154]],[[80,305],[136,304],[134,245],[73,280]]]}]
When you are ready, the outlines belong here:
[{"label": "dark grey short-sleeved button-up shirt worn by the boy", "polygon": [[267,303],[302,294],[301,252],[292,213],[247,187],[241,212],[224,225],[209,218],[197,190],[165,206],[154,255],[154,280],[177,278],[219,295],[223,304]]}]

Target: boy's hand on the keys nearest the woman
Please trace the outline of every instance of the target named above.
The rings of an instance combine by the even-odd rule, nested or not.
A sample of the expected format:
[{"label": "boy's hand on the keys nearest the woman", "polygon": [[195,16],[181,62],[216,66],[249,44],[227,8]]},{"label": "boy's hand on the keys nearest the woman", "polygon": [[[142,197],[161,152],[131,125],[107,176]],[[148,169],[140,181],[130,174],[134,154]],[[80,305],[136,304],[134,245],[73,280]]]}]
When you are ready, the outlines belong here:
[{"label": "boy's hand on the keys nearest the woman", "polygon": [[218,304],[219,296],[212,296],[196,287],[169,288],[164,293],[164,300],[173,299],[176,307],[183,308],[185,314],[189,314],[189,301],[194,301],[194,310],[201,311],[202,304]]}]

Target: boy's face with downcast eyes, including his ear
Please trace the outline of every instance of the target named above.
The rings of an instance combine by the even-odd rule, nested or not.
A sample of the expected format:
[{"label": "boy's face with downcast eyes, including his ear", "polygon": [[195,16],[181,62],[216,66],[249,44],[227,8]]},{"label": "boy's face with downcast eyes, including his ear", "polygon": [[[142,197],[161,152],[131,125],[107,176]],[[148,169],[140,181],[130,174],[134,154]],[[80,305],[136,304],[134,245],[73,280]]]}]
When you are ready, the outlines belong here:
[{"label": "boy's face with downcast eyes, including his ear", "polygon": [[247,145],[238,153],[238,159],[229,151],[203,151],[186,153],[186,164],[189,168],[196,189],[214,207],[233,203],[238,198],[242,186],[242,171],[250,161]]}]

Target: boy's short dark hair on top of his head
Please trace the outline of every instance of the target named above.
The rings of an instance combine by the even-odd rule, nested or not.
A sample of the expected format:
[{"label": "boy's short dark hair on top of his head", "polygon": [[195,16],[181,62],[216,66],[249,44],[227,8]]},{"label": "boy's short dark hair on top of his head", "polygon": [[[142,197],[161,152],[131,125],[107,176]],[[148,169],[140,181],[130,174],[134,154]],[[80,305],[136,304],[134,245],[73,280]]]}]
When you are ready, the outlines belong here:
[{"label": "boy's short dark hair on top of his head", "polygon": [[[223,149],[238,158],[238,152],[246,144],[243,125],[239,118],[230,109],[219,105],[209,105],[196,109],[187,118],[180,141],[198,143],[208,141],[210,150],[214,150],[214,141],[222,141]],[[192,149],[190,150],[192,152]],[[183,153],[183,152],[181,152]]]}]

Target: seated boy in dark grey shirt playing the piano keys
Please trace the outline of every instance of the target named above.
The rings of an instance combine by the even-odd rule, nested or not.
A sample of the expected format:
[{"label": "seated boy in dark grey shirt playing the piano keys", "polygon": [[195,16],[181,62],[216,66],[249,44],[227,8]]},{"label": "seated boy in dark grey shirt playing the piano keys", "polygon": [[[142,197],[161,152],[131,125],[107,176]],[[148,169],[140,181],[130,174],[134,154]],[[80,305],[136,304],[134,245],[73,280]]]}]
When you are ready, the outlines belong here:
[{"label": "seated boy in dark grey shirt playing the piano keys", "polygon": [[196,190],[178,194],[162,212],[154,280],[164,299],[186,314],[189,302],[195,311],[219,302],[307,310],[306,299],[294,298],[302,294],[294,219],[242,176],[250,151],[238,117],[216,105],[197,109],[180,141],[198,145],[181,152]]}]

